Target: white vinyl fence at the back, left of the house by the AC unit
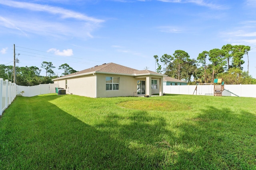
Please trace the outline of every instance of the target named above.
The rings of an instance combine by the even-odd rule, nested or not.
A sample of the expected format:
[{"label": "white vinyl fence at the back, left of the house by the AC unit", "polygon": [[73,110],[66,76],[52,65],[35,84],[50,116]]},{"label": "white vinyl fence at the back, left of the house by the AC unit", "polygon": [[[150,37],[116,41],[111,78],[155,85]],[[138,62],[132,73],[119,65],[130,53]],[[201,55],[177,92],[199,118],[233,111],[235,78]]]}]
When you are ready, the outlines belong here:
[{"label": "white vinyl fence at the back, left of the house by the AC unit", "polygon": [[17,86],[17,94],[24,97],[38,96],[40,94],[55,93],[59,84],[40,84],[37,86]]}]

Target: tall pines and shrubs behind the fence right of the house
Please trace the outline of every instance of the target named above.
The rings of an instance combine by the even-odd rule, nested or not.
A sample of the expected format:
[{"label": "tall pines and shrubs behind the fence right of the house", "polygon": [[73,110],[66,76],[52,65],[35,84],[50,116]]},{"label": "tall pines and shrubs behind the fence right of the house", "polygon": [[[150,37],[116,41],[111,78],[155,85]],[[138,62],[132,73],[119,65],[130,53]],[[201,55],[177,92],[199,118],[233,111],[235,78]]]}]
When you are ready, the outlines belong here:
[{"label": "tall pines and shrubs behind the fence right of the house", "polygon": [[[190,59],[186,51],[176,50],[173,55],[164,54],[160,58],[154,55],[156,72],[189,84],[213,83],[215,78],[222,78],[225,84],[256,84],[256,79],[249,75],[249,51],[250,46],[227,44]],[[242,67],[244,55],[248,58],[247,72]]]}]

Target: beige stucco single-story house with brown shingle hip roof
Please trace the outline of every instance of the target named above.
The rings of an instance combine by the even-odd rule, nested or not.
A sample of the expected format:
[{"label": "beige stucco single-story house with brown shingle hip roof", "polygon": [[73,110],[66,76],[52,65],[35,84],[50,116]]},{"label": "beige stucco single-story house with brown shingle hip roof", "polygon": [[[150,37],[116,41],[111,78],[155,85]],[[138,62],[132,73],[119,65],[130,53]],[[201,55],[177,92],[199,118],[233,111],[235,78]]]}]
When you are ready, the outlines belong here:
[{"label": "beige stucco single-story house with brown shingle hip roof", "polygon": [[115,63],[102,64],[52,79],[67,94],[91,98],[163,95],[166,75]]}]

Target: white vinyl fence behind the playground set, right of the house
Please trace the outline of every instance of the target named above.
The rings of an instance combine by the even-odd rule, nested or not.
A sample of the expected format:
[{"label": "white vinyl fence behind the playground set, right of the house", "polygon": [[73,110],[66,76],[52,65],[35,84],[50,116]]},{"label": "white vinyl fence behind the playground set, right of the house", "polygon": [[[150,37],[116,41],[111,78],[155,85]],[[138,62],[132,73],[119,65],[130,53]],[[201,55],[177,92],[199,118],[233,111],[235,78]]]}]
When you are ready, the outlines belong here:
[{"label": "white vinyl fence behind the playground set, right of the house", "polygon": [[[166,94],[190,94],[213,96],[214,85],[164,86]],[[222,96],[239,96],[256,98],[256,84],[224,85]]]}]

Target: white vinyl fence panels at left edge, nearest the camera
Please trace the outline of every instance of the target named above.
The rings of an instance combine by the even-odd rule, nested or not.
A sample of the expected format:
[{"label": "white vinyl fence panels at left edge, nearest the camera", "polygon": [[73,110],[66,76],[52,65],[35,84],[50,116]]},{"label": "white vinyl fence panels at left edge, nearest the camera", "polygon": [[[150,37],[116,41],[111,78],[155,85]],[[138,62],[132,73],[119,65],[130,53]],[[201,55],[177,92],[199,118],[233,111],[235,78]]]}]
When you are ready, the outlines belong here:
[{"label": "white vinyl fence panels at left edge, nearest the camera", "polygon": [[16,84],[0,78],[0,115],[16,97]]}]

